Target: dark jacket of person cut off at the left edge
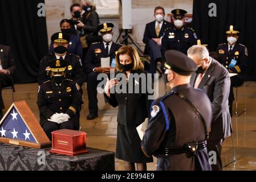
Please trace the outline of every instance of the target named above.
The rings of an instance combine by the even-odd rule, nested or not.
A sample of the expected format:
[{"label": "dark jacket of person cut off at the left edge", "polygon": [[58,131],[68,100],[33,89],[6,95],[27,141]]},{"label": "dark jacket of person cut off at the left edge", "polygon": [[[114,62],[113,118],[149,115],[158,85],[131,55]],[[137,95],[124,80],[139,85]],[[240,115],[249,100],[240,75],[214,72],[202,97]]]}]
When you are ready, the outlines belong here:
[{"label": "dark jacket of person cut off at the left edge", "polygon": [[14,56],[9,46],[0,45],[0,60],[3,69],[8,69],[12,75],[15,71]]}]

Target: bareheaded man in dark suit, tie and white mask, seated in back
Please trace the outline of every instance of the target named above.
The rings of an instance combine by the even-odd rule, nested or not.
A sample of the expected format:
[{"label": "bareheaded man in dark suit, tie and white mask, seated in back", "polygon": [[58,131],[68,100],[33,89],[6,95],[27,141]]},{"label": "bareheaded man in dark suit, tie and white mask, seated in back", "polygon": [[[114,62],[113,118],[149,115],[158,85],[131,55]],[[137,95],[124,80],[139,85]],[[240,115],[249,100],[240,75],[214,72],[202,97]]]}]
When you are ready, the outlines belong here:
[{"label": "bareheaded man in dark suit, tie and white mask, seated in back", "polygon": [[164,20],[165,12],[163,7],[156,7],[155,14],[156,20],[148,23],[145,28],[143,42],[145,46],[145,55],[150,55],[151,64],[150,64],[150,73],[156,73],[157,61],[161,61],[161,38],[164,35],[164,30],[166,28],[172,27],[172,23]]}]

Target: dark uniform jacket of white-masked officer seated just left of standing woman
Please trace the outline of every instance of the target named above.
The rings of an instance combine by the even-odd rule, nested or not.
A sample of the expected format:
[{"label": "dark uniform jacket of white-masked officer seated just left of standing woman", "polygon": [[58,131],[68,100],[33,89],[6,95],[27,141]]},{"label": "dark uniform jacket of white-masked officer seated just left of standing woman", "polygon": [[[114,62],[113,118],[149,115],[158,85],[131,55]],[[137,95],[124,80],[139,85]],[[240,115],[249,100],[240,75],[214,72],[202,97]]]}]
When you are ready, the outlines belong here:
[{"label": "dark uniform jacket of white-masked officer seated just left of standing woman", "polygon": [[[88,49],[86,59],[84,60],[84,71],[85,73],[91,73],[92,69],[100,67],[100,59],[101,57],[108,57],[110,56],[110,64],[113,59],[116,57],[116,52],[119,50],[120,47],[123,45],[112,43],[109,55],[105,51],[104,43],[97,42],[92,43],[90,48]],[[110,66],[110,65],[109,65]]]}]

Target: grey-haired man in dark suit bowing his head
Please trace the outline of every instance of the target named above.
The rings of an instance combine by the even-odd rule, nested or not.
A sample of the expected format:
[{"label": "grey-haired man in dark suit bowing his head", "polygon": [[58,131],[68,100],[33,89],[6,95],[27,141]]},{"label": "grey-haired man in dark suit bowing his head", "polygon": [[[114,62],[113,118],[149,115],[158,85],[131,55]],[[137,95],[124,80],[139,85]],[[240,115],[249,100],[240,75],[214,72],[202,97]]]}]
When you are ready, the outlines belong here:
[{"label": "grey-haired man in dark suit bowing his head", "polygon": [[231,135],[231,118],[229,114],[229,72],[218,61],[209,57],[205,46],[192,46],[188,56],[197,64],[197,72],[192,75],[190,84],[204,90],[212,102],[213,119],[207,142],[208,152],[215,151],[217,164],[212,169],[222,170],[221,146],[225,138]]}]

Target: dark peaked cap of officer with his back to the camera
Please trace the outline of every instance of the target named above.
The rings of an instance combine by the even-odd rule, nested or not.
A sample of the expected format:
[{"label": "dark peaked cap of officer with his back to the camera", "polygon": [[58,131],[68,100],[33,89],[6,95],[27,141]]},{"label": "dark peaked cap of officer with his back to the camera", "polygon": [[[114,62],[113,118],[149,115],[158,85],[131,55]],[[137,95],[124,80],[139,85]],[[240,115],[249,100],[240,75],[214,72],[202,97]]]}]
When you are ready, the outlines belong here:
[{"label": "dark peaked cap of officer with his back to the camera", "polygon": [[189,76],[197,71],[197,64],[182,52],[175,50],[166,51],[165,59],[165,68],[171,69],[173,72],[178,73],[178,75]]}]

